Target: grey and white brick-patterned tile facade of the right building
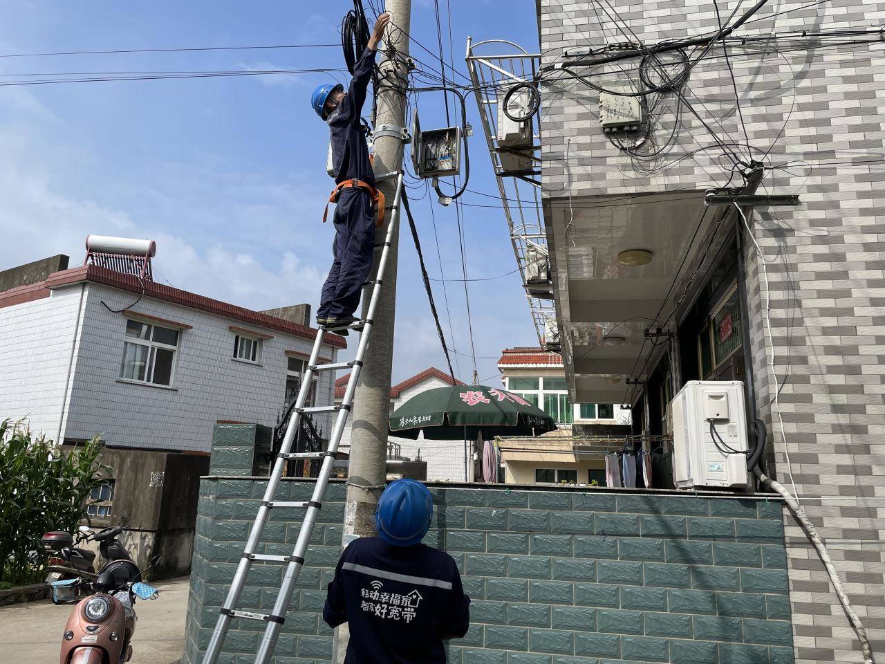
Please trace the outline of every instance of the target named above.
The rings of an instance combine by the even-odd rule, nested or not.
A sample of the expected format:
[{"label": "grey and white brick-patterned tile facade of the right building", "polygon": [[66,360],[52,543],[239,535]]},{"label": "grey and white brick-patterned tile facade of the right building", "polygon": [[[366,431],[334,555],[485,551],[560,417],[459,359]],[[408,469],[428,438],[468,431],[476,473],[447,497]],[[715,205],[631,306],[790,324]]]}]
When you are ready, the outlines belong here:
[{"label": "grey and white brick-patterned tile facade of the right building", "polygon": [[[735,4],[719,3],[723,20]],[[626,41],[605,5],[539,0],[543,64],[557,61],[567,47]],[[738,15],[749,6],[743,4]],[[612,0],[611,7],[623,19],[620,26],[635,32],[630,38],[646,43],[717,27],[707,0]],[[872,0],[770,3],[740,35],[879,27],[883,16],[885,3]],[[879,208],[885,198],[885,60],[879,45],[827,45],[831,42],[797,35],[792,42],[735,45],[731,64],[747,138],[723,58],[701,63],[689,83],[706,106],[696,104],[697,110],[717,134],[758,146],[756,158],[768,151],[763,160],[776,168],[766,170],[759,193],[798,193],[802,199],[796,208],[760,208],[751,220],[766,258],[772,328],[769,340],[764,277],[748,243],[747,345],[756,406],[769,432],[767,467],[773,475],[789,488],[795,484],[800,496],[827,497],[804,501],[805,509],[870,631],[873,651],[881,652],[885,504],[877,498],[885,498],[885,217]],[[729,179],[722,151],[710,149],[712,136],[688,112],[678,143],[664,159],[666,168],[640,174],[600,131],[597,102],[596,92],[576,81],[544,91],[543,184],[550,199],[566,193],[703,190]],[[778,390],[779,409],[773,407]],[[784,519],[797,662],[862,661],[816,552],[789,514]]]}]

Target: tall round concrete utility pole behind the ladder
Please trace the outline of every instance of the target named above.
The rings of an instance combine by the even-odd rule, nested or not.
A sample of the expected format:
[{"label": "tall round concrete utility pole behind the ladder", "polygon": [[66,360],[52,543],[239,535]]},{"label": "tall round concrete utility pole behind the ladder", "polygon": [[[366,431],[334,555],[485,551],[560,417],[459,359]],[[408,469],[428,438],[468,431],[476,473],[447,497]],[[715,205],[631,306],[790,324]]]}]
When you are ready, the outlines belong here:
[{"label": "tall round concrete utility pole behind the ladder", "polygon": [[[385,11],[391,22],[384,37],[384,47],[396,49],[395,59],[383,58],[377,91],[377,114],[374,118],[374,172],[376,175],[398,171],[403,167],[405,127],[405,92],[408,85],[409,31],[412,17],[411,0],[388,0]],[[396,181],[381,182],[379,189],[389,203],[394,200]],[[390,211],[385,215],[390,218]],[[398,215],[396,218],[398,224]],[[376,233],[375,242],[384,235]],[[384,283],[373,318],[372,336],[357,382],[353,413],[350,414],[350,464],[347,498],[344,509],[342,545],[354,537],[373,537],[375,506],[384,489],[387,467],[388,415],[390,409],[390,367],[393,364],[393,332],[396,317],[396,251],[399,228],[394,228]],[[381,252],[375,252],[374,274]],[[368,299],[363,301],[366,317]],[[333,660],[342,662],[350,637],[346,624],[338,628]]]}]

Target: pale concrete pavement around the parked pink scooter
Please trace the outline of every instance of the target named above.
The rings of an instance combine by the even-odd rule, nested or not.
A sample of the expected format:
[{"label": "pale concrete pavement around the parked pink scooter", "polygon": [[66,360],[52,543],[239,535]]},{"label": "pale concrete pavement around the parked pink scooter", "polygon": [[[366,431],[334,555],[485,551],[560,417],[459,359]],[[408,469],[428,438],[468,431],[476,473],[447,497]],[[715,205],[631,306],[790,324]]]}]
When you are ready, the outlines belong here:
[{"label": "pale concrete pavement around the parked pink scooter", "polygon": [[[188,577],[151,583],[157,599],[135,605],[134,652],[130,664],[172,664],[184,651],[184,614],[188,607]],[[72,606],[55,606],[48,599],[0,607],[0,661],[50,664],[58,661],[61,635]]]}]

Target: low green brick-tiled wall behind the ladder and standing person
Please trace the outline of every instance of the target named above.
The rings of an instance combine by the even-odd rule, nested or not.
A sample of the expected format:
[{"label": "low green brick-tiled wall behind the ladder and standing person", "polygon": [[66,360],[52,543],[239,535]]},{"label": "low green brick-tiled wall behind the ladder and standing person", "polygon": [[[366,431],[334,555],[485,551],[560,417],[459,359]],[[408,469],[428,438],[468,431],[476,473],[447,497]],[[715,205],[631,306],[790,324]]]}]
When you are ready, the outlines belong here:
[{"label": "low green brick-tiled wall behind the ladder and standing person", "polygon": [[[198,664],[266,484],[206,477],[200,490],[185,664]],[[313,485],[283,480],[280,499]],[[278,664],[329,660],[321,620],[341,552],[333,483],[278,642]],[[766,498],[431,485],[427,544],[458,562],[473,600],[452,664],[791,664],[781,506]],[[276,511],[260,552],[289,555],[301,513]],[[268,611],[281,566],[256,564],[239,607]],[[235,620],[220,661],[248,662],[264,623]],[[239,653],[239,654],[237,654]],[[252,653],[252,654],[250,654]]]}]

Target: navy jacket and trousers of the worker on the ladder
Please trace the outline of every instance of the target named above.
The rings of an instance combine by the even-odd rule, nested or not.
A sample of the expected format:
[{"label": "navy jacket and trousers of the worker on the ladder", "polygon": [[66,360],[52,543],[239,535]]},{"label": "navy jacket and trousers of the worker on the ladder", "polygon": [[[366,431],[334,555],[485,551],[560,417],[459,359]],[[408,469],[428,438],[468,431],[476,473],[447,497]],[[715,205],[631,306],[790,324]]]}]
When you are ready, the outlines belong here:
[{"label": "navy jacket and trousers of the worker on the ladder", "polygon": [[[366,49],[354,66],[347,95],[328,119],[336,183],[356,178],[375,186],[366,135],[359,123],[374,63],[375,51]],[[342,189],[334,220],[335,259],[319,298],[319,318],[342,318],[354,313],[361,287],[372,269],[375,213],[366,189]]]}]

